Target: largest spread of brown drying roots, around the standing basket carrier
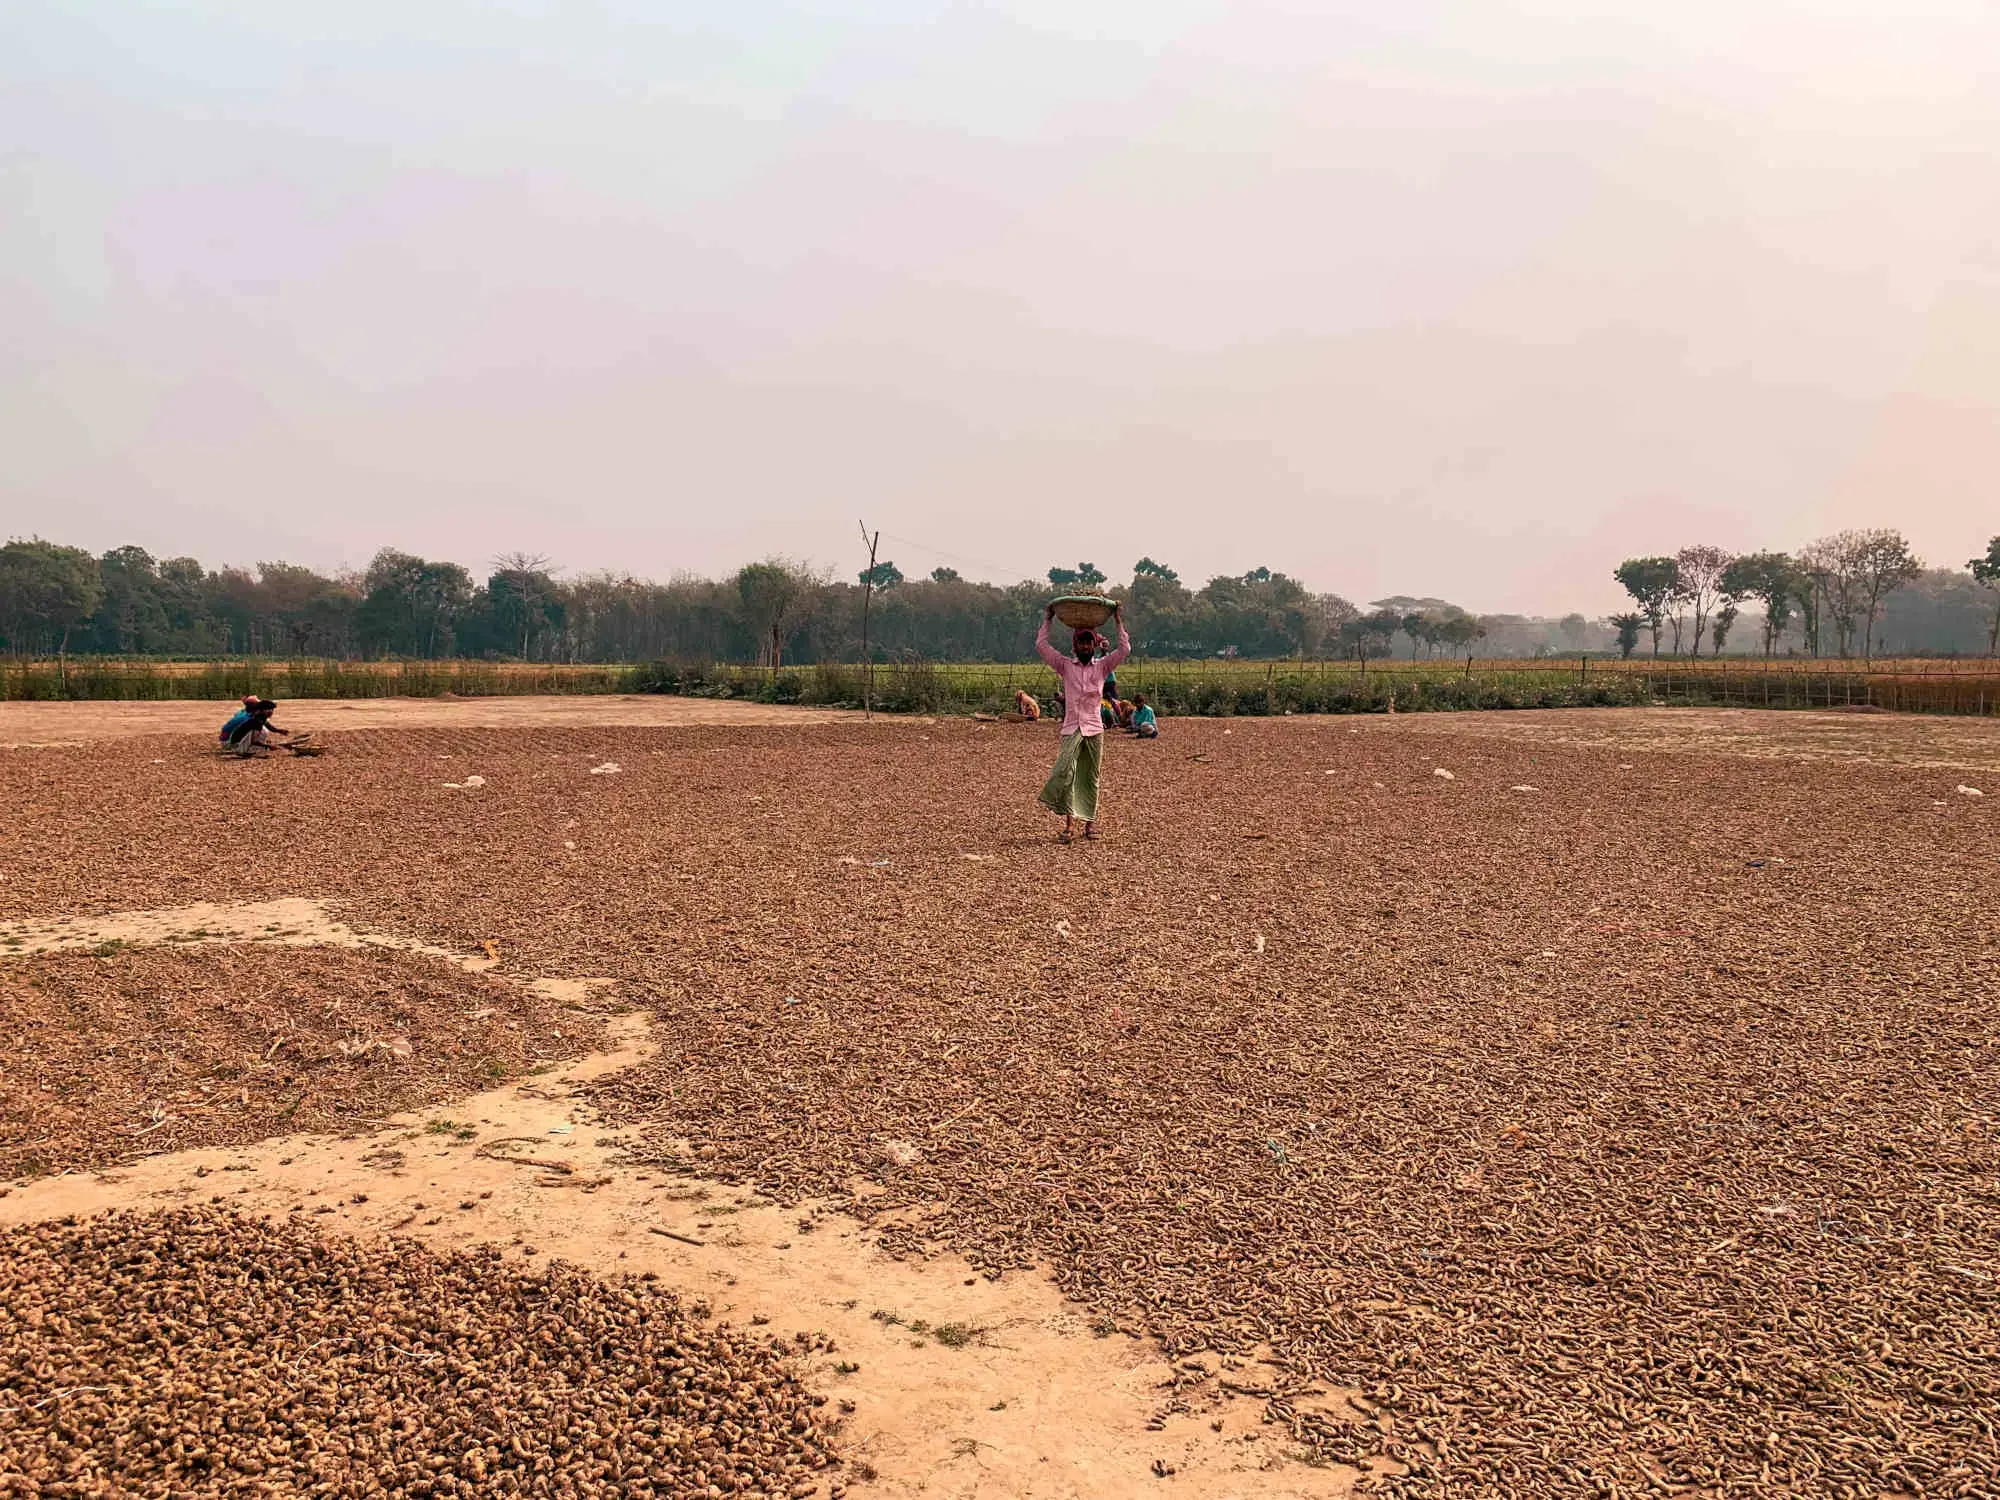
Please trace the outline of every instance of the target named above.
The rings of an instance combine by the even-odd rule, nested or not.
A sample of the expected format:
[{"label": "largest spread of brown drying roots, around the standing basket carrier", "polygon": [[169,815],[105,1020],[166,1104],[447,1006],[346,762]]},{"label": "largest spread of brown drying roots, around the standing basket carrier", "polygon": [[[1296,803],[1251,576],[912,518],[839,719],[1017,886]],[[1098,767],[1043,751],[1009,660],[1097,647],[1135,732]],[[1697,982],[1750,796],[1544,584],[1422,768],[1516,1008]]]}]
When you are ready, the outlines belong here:
[{"label": "largest spread of brown drying roots, around the standing basket carrier", "polygon": [[168,766],[196,816],[144,862],[0,838],[40,910],[160,900],[230,884],[228,814],[314,840],[302,894],[620,974],[642,1154],[866,1174],[1132,1332],[1268,1344],[1366,1392],[1272,1412],[1392,1492],[2000,1484],[2000,840],[1922,772],[1174,724],[1056,850],[1028,730],[452,748],[478,800],[354,736],[282,796]]}]

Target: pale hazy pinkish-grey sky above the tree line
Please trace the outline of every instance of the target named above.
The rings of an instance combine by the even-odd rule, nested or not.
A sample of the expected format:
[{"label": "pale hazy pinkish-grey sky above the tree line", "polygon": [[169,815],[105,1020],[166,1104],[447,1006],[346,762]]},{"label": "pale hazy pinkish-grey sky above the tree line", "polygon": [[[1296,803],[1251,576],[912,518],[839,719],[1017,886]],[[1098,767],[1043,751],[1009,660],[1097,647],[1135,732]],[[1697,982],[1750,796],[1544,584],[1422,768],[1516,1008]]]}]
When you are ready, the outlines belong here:
[{"label": "pale hazy pinkish-grey sky above the tree line", "polygon": [[[1616,604],[2000,532],[1994,0],[12,0],[0,534]],[[922,550],[928,548],[928,550]]]}]

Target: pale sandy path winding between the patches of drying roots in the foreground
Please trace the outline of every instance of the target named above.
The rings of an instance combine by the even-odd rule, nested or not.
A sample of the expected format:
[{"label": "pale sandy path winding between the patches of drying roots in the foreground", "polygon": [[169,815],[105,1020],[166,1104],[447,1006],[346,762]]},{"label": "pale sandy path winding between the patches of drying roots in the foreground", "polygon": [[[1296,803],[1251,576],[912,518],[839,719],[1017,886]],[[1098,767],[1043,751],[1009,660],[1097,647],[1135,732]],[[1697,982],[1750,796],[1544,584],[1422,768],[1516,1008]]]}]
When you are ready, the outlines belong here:
[{"label": "pale sandy path winding between the patches of drying roots in the foreground", "polygon": [[[280,932],[268,934],[272,924]],[[106,940],[386,944],[312,900],[202,904],[0,926],[0,956]],[[454,954],[490,970],[484,954]],[[578,1006],[610,982],[534,980]],[[108,1208],[220,1202],[250,1214],[306,1214],[352,1234],[414,1234],[440,1248],[508,1246],[524,1262],[560,1256],[602,1274],[652,1272],[732,1324],[772,1336],[824,1334],[812,1384],[852,1402],[848,1474],[874,1470],[876,1496],[926,1500],[1320,1500],[1358,1478],[1292,1456],[1262,1420],[1268,1370],[1206,1358],[1220,1376],[1194,1412],[1160,1414],[1176,1368],[1144,1342],[1096,1336],[1046,1276],[988,1280],[956,1256],[892,1258],[854,1220],[806,1202],[630,1164],[594,1128],[576,1086],[650,1052],[648,1016],[612,1018],[620,1048],[562,1072],[404,1114],[354,1136],[280,1136],[250,1148],[182,1150],[130,1168],[0,1188],[0,1224]],[[460,1138],[466,1136],[466,1138]],[[952,1328],[946,1342],[926,1336]],[[960,1344],[960,1332],[968,1342]],[[1184,1372],[1190,1362],[1182,1362]],[[858,1368],[856,1368],[858,1366]],[[1328,1404],[1346,1392],[1324,1394]],[[862,1468],[866,1466],[866,1470]]]}]

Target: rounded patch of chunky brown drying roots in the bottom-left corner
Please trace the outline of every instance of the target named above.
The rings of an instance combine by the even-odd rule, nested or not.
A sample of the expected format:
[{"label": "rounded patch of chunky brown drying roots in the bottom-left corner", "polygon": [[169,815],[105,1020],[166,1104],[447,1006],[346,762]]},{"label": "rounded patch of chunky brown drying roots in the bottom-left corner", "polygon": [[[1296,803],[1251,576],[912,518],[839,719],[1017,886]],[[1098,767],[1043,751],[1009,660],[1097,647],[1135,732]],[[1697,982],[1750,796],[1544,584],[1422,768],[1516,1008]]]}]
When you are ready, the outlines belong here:
[{"label": "rounded patch of chunky brown drying roots in the bottom-left corner", "polygon": [[766,1346],[670,1292],[216,1208],[0,1230],[0,1496],[794,1496]]}]

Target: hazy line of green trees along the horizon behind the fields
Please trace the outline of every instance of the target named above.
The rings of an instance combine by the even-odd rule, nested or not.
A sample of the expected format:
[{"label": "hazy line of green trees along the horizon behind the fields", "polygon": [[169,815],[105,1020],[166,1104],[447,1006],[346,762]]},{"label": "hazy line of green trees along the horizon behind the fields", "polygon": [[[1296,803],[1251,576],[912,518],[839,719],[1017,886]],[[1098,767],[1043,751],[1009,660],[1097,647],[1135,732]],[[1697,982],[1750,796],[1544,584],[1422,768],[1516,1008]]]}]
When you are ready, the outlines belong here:
[{"label": "hazy line of green trees along the horizon behind the fields", "polygon": [[[1870,540],[1872,538],[1872,540]],[[910,578],[890,560],[854,582],[784,558],[726,578],[562,576],[548,558],[506,554],[486,578],[458,562],[384,548],[364,570],[290,562],[206,568],[138,546],[94,556],[40,538],[0,546],[0,650],[104,656],[476,658],[524,662],[1026,660],[1052,592],[1104,590],[1130,608],[1154,658],[1362,658],[1630,654],[1640,632],[1690,654],[1722,650],[1742,604],[1762,608],[1766,652],[1784,644],[1848,654],[1972,654],[2000,644],[2000,538],[1966,572],[1924,570],[1894,532],[1842,532],[1786,554],[1682,548],[1614,570],[1636,608],[1474,614],[1448,600],[1392,596],[1366,608],[1270,568],[1190,588],[1140,558],[1124,582],[1090,562],[1046,580],[974,582],[954,568]],[[1798,630],[1794,632],[1794,626]]]}]

